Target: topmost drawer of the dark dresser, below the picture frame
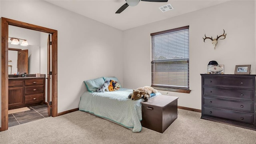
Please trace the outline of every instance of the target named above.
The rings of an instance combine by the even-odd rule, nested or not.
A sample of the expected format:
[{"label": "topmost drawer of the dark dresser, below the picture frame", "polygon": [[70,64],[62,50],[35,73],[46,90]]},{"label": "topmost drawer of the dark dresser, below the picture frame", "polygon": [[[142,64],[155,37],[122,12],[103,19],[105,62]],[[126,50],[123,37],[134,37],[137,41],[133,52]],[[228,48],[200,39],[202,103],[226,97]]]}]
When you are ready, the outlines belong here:
[{"label": "topmost drawer of the dark dresser, below the picture frame", "polygon": [[234,88],[251,88],[253,89],[253,78],[239,77],[204,77],[203,86],[219,86]]}]

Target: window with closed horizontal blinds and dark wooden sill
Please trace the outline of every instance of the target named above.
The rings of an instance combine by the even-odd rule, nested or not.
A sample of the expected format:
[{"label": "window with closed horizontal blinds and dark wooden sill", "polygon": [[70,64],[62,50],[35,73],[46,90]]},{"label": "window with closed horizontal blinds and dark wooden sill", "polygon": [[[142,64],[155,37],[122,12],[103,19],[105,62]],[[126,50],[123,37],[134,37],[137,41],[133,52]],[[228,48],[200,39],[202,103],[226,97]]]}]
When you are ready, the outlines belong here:
[{"label": "window with closed horizontal blinds and dark wooden sill", "polygon": [[190,93],[189,26],[151,34],[151,86]]}]

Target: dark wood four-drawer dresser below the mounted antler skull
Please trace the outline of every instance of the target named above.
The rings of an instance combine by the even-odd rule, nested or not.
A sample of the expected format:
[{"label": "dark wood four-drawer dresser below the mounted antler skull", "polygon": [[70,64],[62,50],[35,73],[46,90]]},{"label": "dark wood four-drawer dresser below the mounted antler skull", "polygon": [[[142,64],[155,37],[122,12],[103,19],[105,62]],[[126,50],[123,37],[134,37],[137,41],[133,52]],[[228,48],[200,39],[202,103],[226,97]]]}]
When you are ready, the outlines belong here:
[{"label": "dark wood four-drawer dresser below the mounted antler skull", "polygon": [[202,119],[256,130],[255,76],[201,74]]}]

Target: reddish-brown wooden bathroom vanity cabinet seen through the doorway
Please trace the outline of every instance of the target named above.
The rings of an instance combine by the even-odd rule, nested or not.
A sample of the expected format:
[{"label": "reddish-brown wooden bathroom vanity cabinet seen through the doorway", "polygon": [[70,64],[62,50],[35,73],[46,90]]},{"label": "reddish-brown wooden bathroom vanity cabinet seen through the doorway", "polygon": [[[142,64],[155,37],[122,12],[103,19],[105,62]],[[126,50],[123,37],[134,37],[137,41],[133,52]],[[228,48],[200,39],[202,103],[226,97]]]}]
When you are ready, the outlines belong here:
[{"label": "reddish-brown wooden bathroom vanity cabinet seen through the doorway", "polygon": [[8,109],[42,104],[45,101],[44,77],[8,78]]}]

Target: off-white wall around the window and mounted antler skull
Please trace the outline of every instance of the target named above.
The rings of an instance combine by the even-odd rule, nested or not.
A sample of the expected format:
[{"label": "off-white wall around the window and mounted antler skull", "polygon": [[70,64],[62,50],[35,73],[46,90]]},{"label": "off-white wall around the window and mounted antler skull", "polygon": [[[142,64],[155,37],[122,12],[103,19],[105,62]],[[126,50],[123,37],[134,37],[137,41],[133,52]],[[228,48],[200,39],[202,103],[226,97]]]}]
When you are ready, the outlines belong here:
[{"label": "off-white wall around the window and mounted antler skull", "polygon": [[[124,31],[124,87],[150,86],[150,33],[190,26],[190,94],[169,92],[178,96],[178,105],[201,109],[201,76],[207,64],[216,60],[224,64],[225,74],[234,74],[235,65],[251,64],[255,71],[254,1],[230,1]],[[203,36],[216,38],[223,34],[214,49]],[[166,94],[166,91],[160,91]]]}]

